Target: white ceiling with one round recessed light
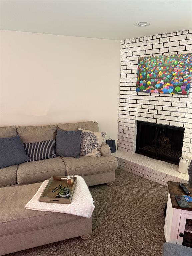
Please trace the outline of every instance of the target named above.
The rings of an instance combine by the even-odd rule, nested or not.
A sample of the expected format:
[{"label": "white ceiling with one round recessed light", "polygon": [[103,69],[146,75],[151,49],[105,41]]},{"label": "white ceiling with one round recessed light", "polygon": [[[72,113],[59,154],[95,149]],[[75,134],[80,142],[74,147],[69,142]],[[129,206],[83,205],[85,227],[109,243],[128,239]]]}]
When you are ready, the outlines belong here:
[{"label": "white ceiling with one round recessed light", "polygon": [[191,0],[6,0],[0,1],[0,29],[122,40],[189,29],[191,10]]}]

